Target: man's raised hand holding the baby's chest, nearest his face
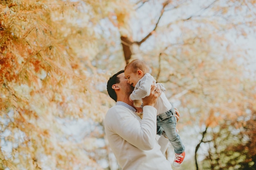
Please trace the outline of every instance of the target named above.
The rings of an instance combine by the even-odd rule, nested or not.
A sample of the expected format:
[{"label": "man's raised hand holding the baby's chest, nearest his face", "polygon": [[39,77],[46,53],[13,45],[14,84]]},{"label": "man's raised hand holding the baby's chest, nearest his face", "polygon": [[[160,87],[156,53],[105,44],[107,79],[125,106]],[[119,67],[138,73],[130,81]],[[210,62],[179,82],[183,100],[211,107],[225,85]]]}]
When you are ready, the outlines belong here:
[{"label": "man's raised hand holding the baby's chest, nearest his face", "polygon": [[158,97],[161,95],[161,91],[160,91],[160,87],[158,86],[156,88],[156,83],[154,83],[151,86],[151,91],[150,91],[150,95],[147,97],[144,97],[142,99],[142,102],[144,104],[144,106],[149,105],[149,106],[154,106],[155,103],[157,102]]}]

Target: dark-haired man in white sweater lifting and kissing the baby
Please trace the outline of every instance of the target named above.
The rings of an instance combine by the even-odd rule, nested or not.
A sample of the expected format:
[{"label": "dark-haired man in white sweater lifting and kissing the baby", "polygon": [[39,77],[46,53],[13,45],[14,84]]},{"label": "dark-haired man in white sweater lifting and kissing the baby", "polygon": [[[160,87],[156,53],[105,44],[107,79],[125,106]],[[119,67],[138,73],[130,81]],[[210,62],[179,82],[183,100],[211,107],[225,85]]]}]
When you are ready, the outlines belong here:
[{"label": "dark-haired man in white sweater lifting and kissing the baby", "polygon": [[[105,131],[122,170],[172,170],[171,163],[164,157],[168,139],[161,135],[157,140],[156,135],[157,110],[153,106],[161,95],[159,87],[154,84],[150,95],[142,99],[143,119],[137,116],[129,100],[133,87],[127,83],[124,71],[110,77],[107,90],[117,104],[106,114]],[[178,121],[177,109],[176,113]]]}]

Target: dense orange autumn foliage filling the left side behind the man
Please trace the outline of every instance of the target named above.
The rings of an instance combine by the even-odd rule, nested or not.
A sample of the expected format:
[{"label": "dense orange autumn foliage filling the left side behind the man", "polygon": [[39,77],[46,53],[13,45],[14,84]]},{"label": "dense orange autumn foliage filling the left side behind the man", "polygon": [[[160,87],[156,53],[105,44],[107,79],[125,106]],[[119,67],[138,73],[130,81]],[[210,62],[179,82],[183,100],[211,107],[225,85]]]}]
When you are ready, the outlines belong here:
[{"label": "dense orange autumn foliage filling the left side behind the man", "polygon": [[[107,77],[91,64],[102,1],[84,2],[0,2],[0,129],[8,134],[0,140],[11,144],[0,151],[0,169],[102,169],[86,138],[74,142],[63,130],[65,121],[101,122],[110,104],[96,88]],[[94,13],[91,27],[82,8]]]}]

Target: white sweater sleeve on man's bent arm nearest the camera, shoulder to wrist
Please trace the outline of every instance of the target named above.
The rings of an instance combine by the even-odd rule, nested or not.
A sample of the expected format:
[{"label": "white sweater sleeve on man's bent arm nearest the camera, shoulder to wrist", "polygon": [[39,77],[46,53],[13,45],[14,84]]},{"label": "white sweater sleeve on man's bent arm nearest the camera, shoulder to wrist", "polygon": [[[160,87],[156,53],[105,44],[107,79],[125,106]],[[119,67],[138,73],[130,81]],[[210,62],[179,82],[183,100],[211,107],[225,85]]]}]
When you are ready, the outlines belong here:
[{"label": "white sweater sleeve on man's bent arm nearest the camera, shoulder to wrist", "polygon": [[105,117],[106,134],[117,134],[141,150],[151,150],[156,142],[156,115],[157,110],[154,107],[144,106],[143,119],[139,121],[129,109],[114,106],[108,110]]}]

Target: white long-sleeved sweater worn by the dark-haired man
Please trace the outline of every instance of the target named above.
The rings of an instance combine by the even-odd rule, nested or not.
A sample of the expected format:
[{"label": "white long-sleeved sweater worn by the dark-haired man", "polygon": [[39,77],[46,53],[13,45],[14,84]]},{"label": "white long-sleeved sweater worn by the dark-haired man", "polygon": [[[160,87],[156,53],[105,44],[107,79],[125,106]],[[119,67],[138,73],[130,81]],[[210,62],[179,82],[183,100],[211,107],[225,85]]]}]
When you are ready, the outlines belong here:
[{"label": "white long-sleeved sweater worn by the dark-haired man", "polygon": [[166,151],[168,139],[161,136],[157,141],[157,110],[144,106],[143,114],[140,119],[135,112],[120,105],[108,110],[105,131],[117,162],[122,170],[172,170],[162,153]]}]

